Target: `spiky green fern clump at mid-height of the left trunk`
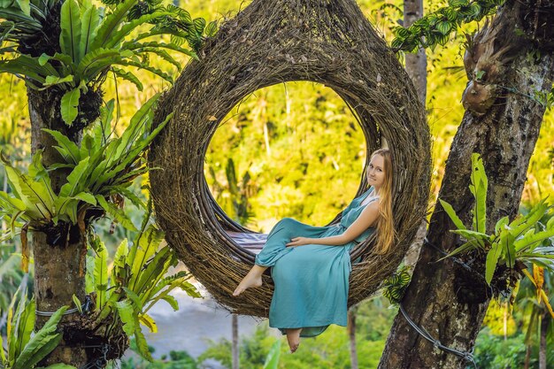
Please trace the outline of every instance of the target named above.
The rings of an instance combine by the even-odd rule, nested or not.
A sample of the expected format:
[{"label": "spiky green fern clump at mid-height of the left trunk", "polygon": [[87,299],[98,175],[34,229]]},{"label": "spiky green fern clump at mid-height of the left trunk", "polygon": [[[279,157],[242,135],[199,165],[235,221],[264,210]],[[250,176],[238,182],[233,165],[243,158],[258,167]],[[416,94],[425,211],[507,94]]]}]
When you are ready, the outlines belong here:
[{"label": "spiky green fern clump at mid-height of the left trunk", "polygon": [[[150,98],[131,118],[120,137],[110,135],[113,100],[100,113],[100,118],[83,136],[81,147],[58,131],[50,131],[58,142],[56,150],[64,158],[63,163],[44,167],[41,151],[37,151],[27,173],[22,173],[2,158],[12,194],[0,191],[0,217],[10,228],[0,236],[0,241],[21,234],[23,266],[27,269],[27,231],[42,230],[56,237],[60,223],[79,225],[84,234],[92,220],[109,214],[132,231],[137,231],[118,204],[123,197],[137,207],[146,205],[128,187],[136,177],[148,172],[143,157],[150,142],[171,118],[152,128],[152,116],[158,96]],[[65,168],[71,172],[67,183],[56,193],[50,185],[49,172]],[[63,244],[64,240],[53,240]]]}]

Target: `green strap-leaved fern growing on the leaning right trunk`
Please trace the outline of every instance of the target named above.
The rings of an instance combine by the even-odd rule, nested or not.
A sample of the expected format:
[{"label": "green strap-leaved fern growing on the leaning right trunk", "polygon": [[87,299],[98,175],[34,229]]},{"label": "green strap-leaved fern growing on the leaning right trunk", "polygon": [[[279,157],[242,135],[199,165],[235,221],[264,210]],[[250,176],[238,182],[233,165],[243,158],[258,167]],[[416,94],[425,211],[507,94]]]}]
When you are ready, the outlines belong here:
[{"label": "green strap-leaved fern growing on the leaning right trunk", "polygon": [[[439,199],[442,209],[447,212],[458,228],[451,232],[459,234],[467,240],[444,258],[470,251],[476,251],[478,255],[485,253],[484,279],[493,288],[493,292],[500,294],[512,289],[511,303],[513,303],[517,295],[519,280],[526,275],[535,284],[537,294],[542,296],[550,314],[554,317],[554,311],[552,311],[542,286],[535,283],[538,279],[527,272],[527,266],[532,266],[535,276],[537,273],[542,273],[543,268],[554,272],[554,246],[552,246],[554,216],[550,214],[552,206],[545,204],[546,199],[542,199],[526,215],[519,215],[512,222],[508,216],[499,219],[495,225],[495,232],[487,234],[488,180],[482,159],[477,153],[472,155],[472,175],[469,188],[475,198],[473,229],[468,229],[464,225],[450,204]],[[550,215],[550,217],[544,225],[540,220],[545,215]]]}]

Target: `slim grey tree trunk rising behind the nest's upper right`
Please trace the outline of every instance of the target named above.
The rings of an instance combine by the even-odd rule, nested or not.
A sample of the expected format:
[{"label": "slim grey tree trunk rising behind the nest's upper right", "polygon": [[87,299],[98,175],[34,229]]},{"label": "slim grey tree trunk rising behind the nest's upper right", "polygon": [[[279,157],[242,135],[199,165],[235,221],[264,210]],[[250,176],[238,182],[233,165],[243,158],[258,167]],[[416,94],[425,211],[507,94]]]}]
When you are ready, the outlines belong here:
[{"label": "slim grey tree trunk rising behind the nest's upper right", "polygon": [[[404,27],[423,16],[423,0],[404,0]],[[419,102],[425,106],[427,98],[427,56],[425,49],[419,48],[415,54],[405,56],[405,70],[418,92]]]}]

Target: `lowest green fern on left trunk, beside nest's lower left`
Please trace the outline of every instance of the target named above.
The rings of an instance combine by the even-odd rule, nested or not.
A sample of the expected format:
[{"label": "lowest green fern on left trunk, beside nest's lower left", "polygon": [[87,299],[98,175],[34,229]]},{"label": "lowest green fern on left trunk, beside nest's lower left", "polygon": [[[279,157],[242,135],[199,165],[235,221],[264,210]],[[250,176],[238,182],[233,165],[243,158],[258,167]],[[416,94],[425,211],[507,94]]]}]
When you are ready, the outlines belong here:
[{"label": "lowest green fern on left trunk, beside nest's lower left", "polygon": [[[175,288],[181,288],[189,296],[201,297],[188,281],[190,273],[180,271],[165,277],[170,267],[177,265],[177,257],[169,246],[161,249],[164,232],[149,225],[151,201],[143,219],[140,232],[130,249],[127,239],[123,240],[113,258],[111,278],[108,279],[108,252],[96,235],[90,234],[89,244],[96,256],[88,257],[87,293],[95,296],[94,310],[90,319],[94,322],[91,331],[123,331],[127,337],[135,336],[135,342],[142,357],[152,361],[148,344],[142,334],[141,324],[157,332],[156,322],[148,315],[150,308],[164,300],[174,311],[179,309],[177,300],[169,295]],[[159,249],[159,250],[158,250]],[[81,302],[73,296],[76,306]]]}]

